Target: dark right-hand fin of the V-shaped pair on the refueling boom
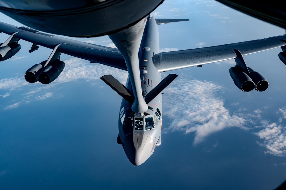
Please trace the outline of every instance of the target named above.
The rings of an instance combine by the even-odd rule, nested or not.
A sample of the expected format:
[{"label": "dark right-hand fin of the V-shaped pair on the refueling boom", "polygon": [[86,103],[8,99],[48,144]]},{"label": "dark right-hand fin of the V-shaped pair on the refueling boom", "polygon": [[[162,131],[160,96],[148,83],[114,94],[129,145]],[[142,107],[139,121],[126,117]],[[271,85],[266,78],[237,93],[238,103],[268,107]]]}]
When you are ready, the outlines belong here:
[{"label": "dark right-hand fin of the V-shaped pair on the refueling boom", "polygon": [[178,75],[169,74],[163,81],[161,81],[151,92],[145,96],[145,102],[148,104],[153,100],[159,93],[161,93]]}]

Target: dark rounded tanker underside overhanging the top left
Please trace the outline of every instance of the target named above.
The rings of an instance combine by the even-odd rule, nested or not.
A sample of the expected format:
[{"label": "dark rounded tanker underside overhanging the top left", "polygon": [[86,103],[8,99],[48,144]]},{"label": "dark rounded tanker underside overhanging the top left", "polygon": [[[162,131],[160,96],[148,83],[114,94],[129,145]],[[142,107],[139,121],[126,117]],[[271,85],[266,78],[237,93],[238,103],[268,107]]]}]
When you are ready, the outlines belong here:
[{"label": "dark rounded tanker underside overhanging the top left", "polygon": [[116,33],[164,0],[0,0],[0,11],[34,29],[74,37]]}]

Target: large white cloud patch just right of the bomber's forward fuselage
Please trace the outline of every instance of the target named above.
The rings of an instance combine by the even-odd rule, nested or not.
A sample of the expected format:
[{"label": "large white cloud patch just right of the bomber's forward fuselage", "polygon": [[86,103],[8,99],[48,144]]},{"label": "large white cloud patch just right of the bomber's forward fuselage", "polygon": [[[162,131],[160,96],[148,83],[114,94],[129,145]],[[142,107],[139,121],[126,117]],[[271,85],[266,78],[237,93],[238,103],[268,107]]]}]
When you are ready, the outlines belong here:
[{"label": "large white cloud patch just right of the bomber's forward fuselage", "polygon": [[[241,127],[245,119],[231,115],[216,92],[223,87],[217,84],[188,79],[176,79],[165,90],[165,115],[171,120],[165,132],[195,132],[193,144],[201,143],[212,133],[227,127]],[[173,97],[176,97],[175,99]]]}]

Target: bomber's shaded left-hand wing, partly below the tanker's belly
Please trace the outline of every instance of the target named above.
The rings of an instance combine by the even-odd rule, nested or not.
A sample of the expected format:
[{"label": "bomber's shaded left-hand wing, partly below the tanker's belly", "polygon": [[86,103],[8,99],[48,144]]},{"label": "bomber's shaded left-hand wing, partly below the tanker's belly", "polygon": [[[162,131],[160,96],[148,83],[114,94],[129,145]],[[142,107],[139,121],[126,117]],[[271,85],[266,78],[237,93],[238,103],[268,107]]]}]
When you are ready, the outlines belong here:
[{"label": "bomber's shaded left-hand wing, partly below the tanker's belly", "polygon": [[124,58],[116,48],[57,37],[27,27],[16,27],[3,22],[0,22],[0,31],[9,35],[18,32],[14,37],[50,49],[54,49],[58,44],[61,44],[57,48],[57,51],[61,53],[127,71]]}]

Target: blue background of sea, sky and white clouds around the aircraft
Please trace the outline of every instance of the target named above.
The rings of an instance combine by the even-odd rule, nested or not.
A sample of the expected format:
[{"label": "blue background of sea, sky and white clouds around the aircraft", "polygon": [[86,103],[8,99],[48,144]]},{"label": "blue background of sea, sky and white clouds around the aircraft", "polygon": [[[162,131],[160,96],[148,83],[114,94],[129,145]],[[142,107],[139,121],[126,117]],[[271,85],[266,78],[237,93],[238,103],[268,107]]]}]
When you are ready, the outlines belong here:
[{"label": "blue background of sea, sky and white clouds around the aircraft", "polygon": [[[154,15],[190,19],[158,26],[162,52],[285,34],[216,1],[165,0]],[[8,37],[0,34],[3,42]],[[77,40],[114,47],[107,36]],[[32,44],[19,44],[0,63],[0,189],[269,190],[286,179],[281,48],[244,56],[268,79],[264,92],[234,85],[234,60],[163,73],[178,77],[163,91],[162,144],[134,166],[116,143],[121,98],[100,80],[111,74],[125,83],[127,72],[62,54],[58,79],[30,84],[25,71],[52,50],[28,53]]]}]

